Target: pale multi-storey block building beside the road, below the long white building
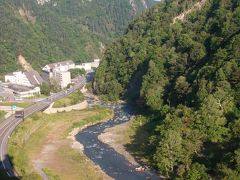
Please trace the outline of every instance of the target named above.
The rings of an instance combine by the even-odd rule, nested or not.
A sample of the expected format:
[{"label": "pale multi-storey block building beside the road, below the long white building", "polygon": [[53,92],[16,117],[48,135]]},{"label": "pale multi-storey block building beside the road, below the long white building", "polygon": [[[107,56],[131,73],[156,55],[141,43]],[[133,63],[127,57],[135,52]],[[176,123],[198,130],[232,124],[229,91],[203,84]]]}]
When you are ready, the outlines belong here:
[{"label": "pale multi-storey block building beside the road, below the long white building", "polygon": [[68,71],[55,71],[52,78],[61,88],[66,88],[71,84],[71,73]]}]

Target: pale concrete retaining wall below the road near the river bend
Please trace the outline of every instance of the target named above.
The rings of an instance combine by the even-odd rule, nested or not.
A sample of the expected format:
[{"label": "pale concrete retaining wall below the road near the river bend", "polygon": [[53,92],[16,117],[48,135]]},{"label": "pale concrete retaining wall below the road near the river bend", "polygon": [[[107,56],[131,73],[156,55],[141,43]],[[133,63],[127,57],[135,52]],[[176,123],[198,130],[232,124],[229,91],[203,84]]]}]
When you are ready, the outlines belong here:
[{"label": "pale concrete retaining wall below the road near the river bend", "polygon": [[47,108],[44,113],[46,114],[54,114],[54,113],[58,113],[58,112],[69,112],[72,110],[82,110],[82,109],[86,109],[88,107],[88,103],[87,101],[83,101],[79,104],[76,105],[72,105],[72,106],[67,106],[67,107],[62,107],[62,108],[53,108],[53,104],[52,103],[49,108]]}]

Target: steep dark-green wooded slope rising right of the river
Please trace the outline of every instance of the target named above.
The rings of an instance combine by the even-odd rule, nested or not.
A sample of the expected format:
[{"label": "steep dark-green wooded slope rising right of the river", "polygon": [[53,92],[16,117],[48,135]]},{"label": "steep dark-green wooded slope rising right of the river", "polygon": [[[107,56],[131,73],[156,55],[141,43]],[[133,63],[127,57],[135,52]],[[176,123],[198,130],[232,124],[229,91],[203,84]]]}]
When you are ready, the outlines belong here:
[{"label": "steep dark-green wooded slope rising right of the river", "polygon": [[148,109],[136,118],[136,153],[160,174],[239,179],[239,0],[149,9],[106,50],[94,87]]}]

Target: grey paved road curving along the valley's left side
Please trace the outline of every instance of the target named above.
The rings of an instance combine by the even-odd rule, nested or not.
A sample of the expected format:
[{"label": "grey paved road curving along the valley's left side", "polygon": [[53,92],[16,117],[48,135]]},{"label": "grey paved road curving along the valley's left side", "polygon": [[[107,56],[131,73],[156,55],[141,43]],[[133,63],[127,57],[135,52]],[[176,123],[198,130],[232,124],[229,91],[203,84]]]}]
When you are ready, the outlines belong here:
[{"label": "grey paved road curving along the valley's left side", "polygon": [[[85,85],[85,78],[81,78],[75,86],[69,88],[68,90],[53,94],[42,101],[36,102],[35,104],[24,109],[24,117],[28,117],[31,114],[39,111],[45,110],[52,102],[57,101],[79,88]],[[7,154],[7,143],[8,138],[14,131],[14,129],[23,121],[22,118],[15,118],[15,116],[10,116],[0,124],[0,169],[6,171],[8,176],[15,176],[16,173],[12,169],[9,157]]]}]

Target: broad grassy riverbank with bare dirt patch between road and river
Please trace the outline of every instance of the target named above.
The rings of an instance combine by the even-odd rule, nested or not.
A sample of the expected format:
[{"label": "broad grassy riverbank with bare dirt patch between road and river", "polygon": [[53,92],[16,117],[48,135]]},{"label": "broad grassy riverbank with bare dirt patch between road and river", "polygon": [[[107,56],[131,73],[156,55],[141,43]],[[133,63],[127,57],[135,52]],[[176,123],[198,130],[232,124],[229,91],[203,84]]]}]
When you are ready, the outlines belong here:
[{"label": "broad grassy riverbank with bare dirt patch between road and river", "polygon": [[73,141],[67,136],[74,128],[111,116],[110,110],[102,108],[34,114],[10,138],[9,156],[15,170],[29,179],[109,179],[79,149],[73,148]]}]

